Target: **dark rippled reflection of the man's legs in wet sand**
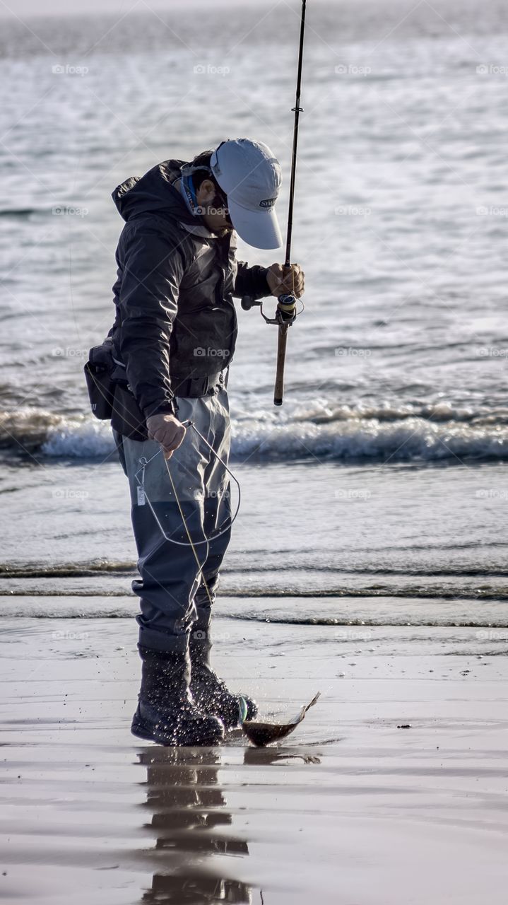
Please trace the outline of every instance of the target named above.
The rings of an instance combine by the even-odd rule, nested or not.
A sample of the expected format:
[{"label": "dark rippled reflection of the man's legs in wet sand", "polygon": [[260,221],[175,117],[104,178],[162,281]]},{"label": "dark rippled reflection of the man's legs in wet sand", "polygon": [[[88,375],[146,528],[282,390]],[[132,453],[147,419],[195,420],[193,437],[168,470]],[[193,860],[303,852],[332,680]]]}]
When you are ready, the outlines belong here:
[{"label": "dark rippled reflection of the man's legs in wet sand", "polygon": [[212,862],[213,855],[249,854],[243,839],[224,832],[232,816],[218,785],[220,757],[210,748],[149,748],[138,757],[146,767],[147,825],[161,862],[141,901],[250,905],[252,888],[222,876]]}]

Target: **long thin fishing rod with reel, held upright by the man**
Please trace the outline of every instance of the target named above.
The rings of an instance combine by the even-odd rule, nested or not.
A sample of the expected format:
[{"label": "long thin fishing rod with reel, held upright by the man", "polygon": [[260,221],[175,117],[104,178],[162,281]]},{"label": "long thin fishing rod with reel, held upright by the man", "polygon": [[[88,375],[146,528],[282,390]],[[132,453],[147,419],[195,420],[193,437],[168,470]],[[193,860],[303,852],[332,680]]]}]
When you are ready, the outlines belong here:
[{"label": "long thin fishing rod with reel, held upright by the man", "polygon": [[[293,150],[291,154],[291,179],[289,183],[289,207],[287,211],[287,239],[286,239],[286,262],[285,270],[291,266],[291,239],[293,235],[293,209],[295,203],[295,182],[296,182],[296,150],[298,147],[298,125],[300,113],[303,107],[300,107],[300,93],[302,87],[302,66],[304,61],[304,36],[306,30],[306,0],[302,0],[302,13],[300,19],[300,43],[298,49],[298,71],[296,75],[296,101],[295,106],[291,110],[295,113],[295,123],[293,127]],[[254,305],[259,305],[261,316],[267,324],[278,325],[278,345],[277,345],[277,372],[275,378],[273,404],[282,405],[284,397],[284,367],[286,364],[286,347],[287,347],[287,330],[296,319],[296,298],[290,292],[279,295],[275,318],[268,318],[263,312],[262,301],[251,299],[244,296],[241,300],[243,310],[249,311]]]}]

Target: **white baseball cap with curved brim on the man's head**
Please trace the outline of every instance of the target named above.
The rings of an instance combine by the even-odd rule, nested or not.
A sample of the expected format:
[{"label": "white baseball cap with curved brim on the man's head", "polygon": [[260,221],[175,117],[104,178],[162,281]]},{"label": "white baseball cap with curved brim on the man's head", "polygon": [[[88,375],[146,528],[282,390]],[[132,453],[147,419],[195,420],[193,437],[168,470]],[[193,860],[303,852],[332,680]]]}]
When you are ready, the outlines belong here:
[{"label": "white baseball cap with curved brim on the man's head", "polygon": [[255,248],[279,248],[275,203],[282,171],[268,146],[250,138],[229,138],[213,151],[210,167],[227,195],[230,220],[240,238]]}]

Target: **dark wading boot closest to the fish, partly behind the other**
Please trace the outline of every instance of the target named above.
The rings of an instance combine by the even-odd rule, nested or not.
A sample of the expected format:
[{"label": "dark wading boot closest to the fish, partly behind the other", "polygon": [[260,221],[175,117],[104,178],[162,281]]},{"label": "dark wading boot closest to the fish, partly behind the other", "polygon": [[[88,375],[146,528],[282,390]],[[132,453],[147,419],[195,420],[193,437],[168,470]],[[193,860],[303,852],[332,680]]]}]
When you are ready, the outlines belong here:
[{"label": "dark wading boot closest to the fish, partly behind the other", "polygon": [[244,719],[254,719],[258,713],[255,700],[245,694],[233,694],[210,665],[212,642],[209,630],[191,632],[191,692],[202,713],[218,717],[226,729],[234,729]]}]

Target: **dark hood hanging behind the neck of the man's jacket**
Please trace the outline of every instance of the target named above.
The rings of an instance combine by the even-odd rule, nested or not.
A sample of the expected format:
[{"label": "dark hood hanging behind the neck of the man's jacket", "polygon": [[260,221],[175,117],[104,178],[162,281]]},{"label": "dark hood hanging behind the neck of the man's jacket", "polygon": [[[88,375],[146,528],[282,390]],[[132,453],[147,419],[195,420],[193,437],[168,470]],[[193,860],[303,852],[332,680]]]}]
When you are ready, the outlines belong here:
[{"label": "dark hood hanging behind the neck of the man's jacket", "polygon": [[111,197],[124,220],[133,220],[143,214],[158,214],[165,219],[196,225],[202,218],[194,216],[185,204],[175,179],[182,176],[184,160],[165,160],[157,164],[145,176],[130,176],[122,182]]}]

